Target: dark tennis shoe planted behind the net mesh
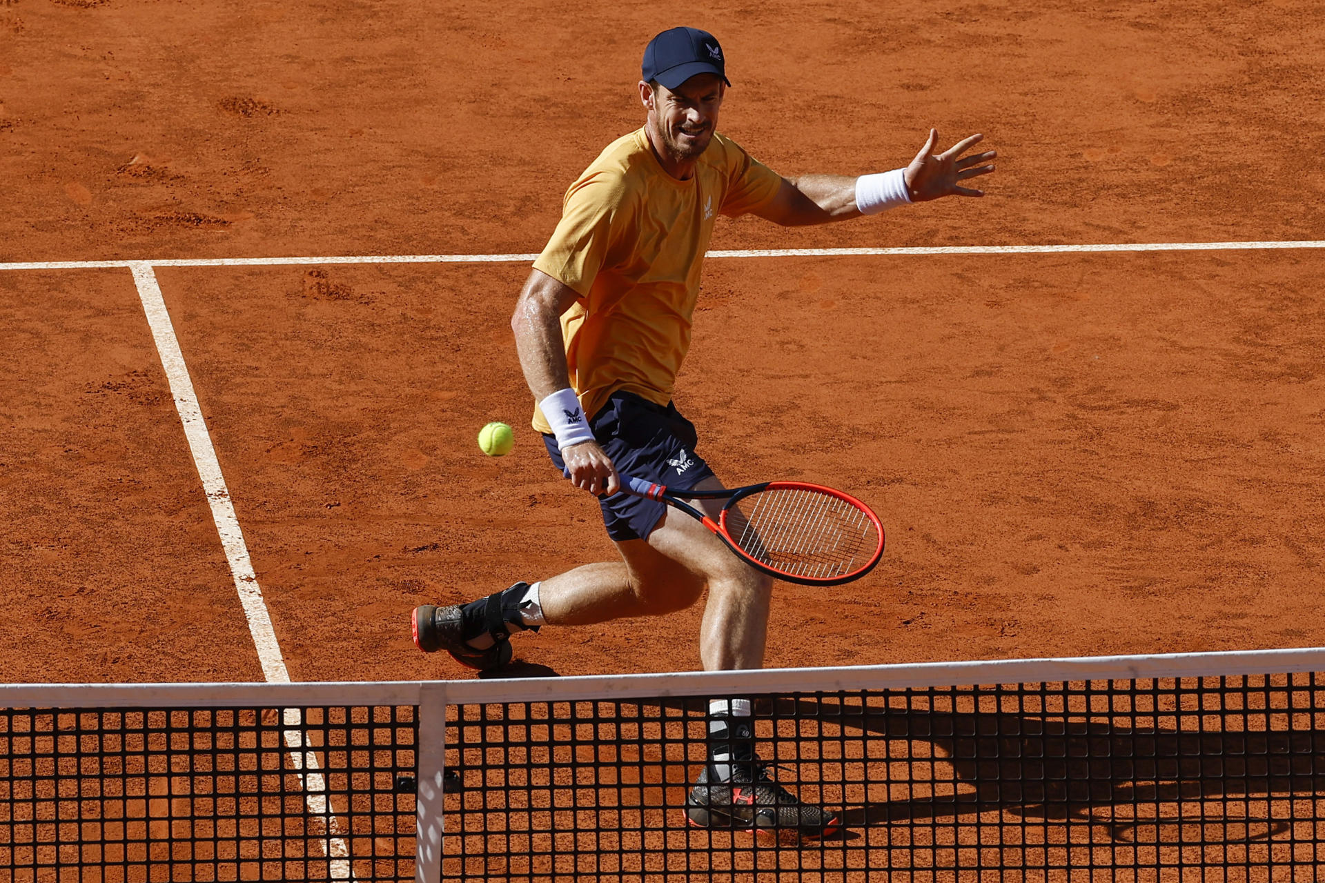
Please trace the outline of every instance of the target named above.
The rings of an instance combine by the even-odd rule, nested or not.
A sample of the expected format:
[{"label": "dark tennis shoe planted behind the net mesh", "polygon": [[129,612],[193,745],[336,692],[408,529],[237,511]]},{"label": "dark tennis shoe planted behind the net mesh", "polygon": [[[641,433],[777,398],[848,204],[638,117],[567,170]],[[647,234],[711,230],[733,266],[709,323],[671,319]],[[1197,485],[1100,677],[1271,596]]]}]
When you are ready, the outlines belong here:
[{"label": "dark tennis shoe planted behind the net mesh", "polygon": [[800,800],[768,774],[768,764],[737,764],[731,778],[712,781],[705,765],[685,800],[690,825],[709,830],[754,831],[779,843],[819,839],[837,830],[835,813]]}]

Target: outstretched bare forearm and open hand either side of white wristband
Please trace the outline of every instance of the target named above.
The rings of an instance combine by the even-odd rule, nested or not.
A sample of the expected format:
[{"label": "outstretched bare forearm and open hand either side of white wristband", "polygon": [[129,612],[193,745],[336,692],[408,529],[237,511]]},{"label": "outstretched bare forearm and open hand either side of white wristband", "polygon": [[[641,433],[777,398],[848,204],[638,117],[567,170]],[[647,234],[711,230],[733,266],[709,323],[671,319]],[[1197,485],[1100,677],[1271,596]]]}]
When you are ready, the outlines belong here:
[{"label": "outstretched bare forearm and open hand either side of white wristband", "polygon": [[[984,196],[983,191],[959,184],[959,181],[994,171],[992,164],[980,165],[980,163],[994,159],[995,151],[962,156],[983,138],[983,135],[971,135],[935,156],[933,151],[938,146],[938,132],[931,128],[925,146],[902,173],[906,183],[906,196],[910,201],[926,203],[943,196]],[[860,209],[856,205],[856,177],[802,175],[795,179],[783,179],[782,189],[778,191],[774,200],[757,210],[755,214],[783,226],[828,224],[829,221],[860,217]]]}]

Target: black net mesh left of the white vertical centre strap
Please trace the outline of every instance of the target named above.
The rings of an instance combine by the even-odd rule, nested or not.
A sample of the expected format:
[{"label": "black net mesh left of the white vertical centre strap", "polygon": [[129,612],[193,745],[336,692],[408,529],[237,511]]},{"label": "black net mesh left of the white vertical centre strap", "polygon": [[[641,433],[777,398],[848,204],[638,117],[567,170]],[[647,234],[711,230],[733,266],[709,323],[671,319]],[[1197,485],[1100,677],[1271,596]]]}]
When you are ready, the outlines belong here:
[{"label": "black net mesh left of the white vertical centre strap", "polygon": [[0,710],[0,880],[415,875],[412,707]]}]

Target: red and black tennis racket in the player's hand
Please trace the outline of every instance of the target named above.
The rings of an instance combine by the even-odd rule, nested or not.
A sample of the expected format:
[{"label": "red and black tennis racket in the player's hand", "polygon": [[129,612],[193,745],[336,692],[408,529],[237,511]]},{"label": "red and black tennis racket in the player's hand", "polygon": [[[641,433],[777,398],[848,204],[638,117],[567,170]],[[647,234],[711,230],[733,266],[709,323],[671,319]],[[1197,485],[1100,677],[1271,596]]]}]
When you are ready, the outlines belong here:
[{"label": "red and black tennis racket in the player's hand", "polygon": [[[884,555],[878,516],[855,496],[831,487],[765,482],[721,491],[673,491],[623,475],[621,490],[661,500],[697,519],[746,564],[787,582],[851,582],[874,569]],[[726,503],[714,522],[686,499]]]}]

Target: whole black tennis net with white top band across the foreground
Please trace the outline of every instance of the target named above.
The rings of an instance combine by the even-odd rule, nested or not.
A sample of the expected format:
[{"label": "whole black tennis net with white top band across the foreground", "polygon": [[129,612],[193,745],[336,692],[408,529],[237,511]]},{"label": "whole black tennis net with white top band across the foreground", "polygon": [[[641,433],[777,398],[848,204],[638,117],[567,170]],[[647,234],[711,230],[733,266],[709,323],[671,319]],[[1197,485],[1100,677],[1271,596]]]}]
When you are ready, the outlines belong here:
[{"label": "whole black tennis net with white top band across the foreground", "polygon": [[[778,786],[835,830],[692,821],[709,703],[734,698]],[[1269,882],[1325,863],[1325,649],[0,703],[0,880]]]}]

